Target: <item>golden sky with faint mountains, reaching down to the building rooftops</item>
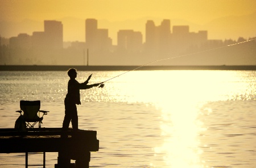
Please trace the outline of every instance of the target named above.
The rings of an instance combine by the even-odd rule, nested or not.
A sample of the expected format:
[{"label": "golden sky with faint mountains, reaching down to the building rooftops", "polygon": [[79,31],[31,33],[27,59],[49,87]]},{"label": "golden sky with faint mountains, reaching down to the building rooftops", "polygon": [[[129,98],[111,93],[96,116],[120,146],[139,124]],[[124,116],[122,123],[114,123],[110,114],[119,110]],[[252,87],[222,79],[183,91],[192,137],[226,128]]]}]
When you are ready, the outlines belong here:
[{"label": "golden sky with faint mountains, reaching down to the building rooftops", "polygon": [[[189,25],[192,32],[207,30],[211,39],[255,37],[256,1],[5,1],[0,0],[0,33],[10,38],[18,33],[42,31],[43,20],[65,25],[64,41],[84,41],[84,21],[96,18],[99,28],[109,29],[117,44],[118,29],[133,29],[145,35],[144,24],[170,19],[172,25]],[[143,38],[143,41],[145,39]]]}]

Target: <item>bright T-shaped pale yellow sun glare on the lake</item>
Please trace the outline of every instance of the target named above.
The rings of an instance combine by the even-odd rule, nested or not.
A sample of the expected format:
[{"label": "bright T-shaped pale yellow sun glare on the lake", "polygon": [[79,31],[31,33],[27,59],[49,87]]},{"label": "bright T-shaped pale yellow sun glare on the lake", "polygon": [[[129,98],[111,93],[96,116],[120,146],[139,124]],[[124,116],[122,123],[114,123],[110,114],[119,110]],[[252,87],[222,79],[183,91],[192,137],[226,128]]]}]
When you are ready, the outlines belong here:
[{"label": "bright T-shaped pale yellow sun glare on the lake", "polygon": [[[251,72],[136,71],[106,83],[108,90],[104,91],[114,97],[112,101],[151,104],[160,111],[162,144],[155,144],[152,150],[156,156],[163,156],[166,167],[209,167],[204,160],[206,144],[201,140],[209,131],[205,125],[210,122],[212,109],[204,109],[204,105],[253,99],[256,92],[251,85],[255,79],[243,73]],[[152,161],[150,167],[158,164]]]}]

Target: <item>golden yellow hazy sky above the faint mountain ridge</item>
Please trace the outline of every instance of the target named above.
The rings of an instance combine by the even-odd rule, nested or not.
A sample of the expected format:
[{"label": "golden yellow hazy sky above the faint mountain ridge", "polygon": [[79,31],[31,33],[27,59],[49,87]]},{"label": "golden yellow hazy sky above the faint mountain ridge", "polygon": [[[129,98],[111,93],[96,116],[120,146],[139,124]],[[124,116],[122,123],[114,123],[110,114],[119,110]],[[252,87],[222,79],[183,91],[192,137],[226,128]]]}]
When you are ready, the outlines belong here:
[{"label": "golden yellow hazy sky above the faint mountain ridge", "polygon": [[225,16],[249,15],[255,8],[256,0],[0,0],[0,21],[154,17],[205,24]]}]

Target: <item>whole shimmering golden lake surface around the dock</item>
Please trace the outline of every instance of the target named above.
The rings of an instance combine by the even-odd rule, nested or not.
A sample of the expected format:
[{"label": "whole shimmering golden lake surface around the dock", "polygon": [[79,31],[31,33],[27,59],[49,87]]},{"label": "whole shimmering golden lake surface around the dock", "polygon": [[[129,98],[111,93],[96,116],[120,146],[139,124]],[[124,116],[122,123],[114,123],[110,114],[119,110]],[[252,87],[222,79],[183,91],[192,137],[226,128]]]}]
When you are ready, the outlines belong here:
[{"label": "whole shimmering golden lake surface around the dock", "polygon": [[[78,71],[77,80],[123,72]],[[61,127],[68,80],[65,71],[1,71],[0,127],[14,128],[20,100],[41,100],[50,111],[42,127]],[[256,167],[256,71],[131,71],[80,93],[79,128],[100,140],[90,167]],[[46,167],[55,163],[46,153]],[[0,167],[24,164],[24,153],[0,154]]]}]

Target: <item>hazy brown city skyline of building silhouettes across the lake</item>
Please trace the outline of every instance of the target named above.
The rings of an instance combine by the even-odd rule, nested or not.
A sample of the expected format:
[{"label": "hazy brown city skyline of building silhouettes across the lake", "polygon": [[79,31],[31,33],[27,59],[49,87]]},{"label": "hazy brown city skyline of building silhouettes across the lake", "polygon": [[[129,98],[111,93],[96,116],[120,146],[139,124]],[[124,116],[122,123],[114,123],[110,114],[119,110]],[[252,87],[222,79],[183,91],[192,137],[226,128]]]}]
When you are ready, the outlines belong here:
[{"label": "hazy brown city skyline of building silhouettes across the lake", "polygon": [[[10,38],[2,37],[2,44],[6,45],[6,41],[9,41],[7,45],[10,45],[11,48],[15,48],[14,46],[18,47],[18,45],[22,46],[22,48],[28,48],[28,44],[31,45],[33,48],[63,48],[63,44],[67,43],[63,40],[63,29],[64,25],[61,21],[57,20],[44,20],[44,31],[34,31],[32,35],[28,35],[27,33],[19,33],[18,36],[13,36]],[[193,37],[192,39],[185,39],[186,41],[190,41],[189,44],[196,44],[200,45],[201,43],[208,40],[208,31],[199,31],[191,32],[189,30],[189,25],[173,25],[171,31],[171,21],[169,19],[163,19],[160,25],[156,25],[153,20],[147,20],[145,24],[146,32],[145,38],[146,40],[143,41],[143,35],[141,32],[134,31],[133,29],[119,29],[117,32],[117,47],[125,47],[123,42],[129,41],[131,44],[131,36],[133,36],[133,42],[135,42],[135,48],[138,50],[142,50],[142,45],[145,44],[146,48],[168,48],[171,40],[170,38],[174,38],[177,42],[184,41],[185,38],[192,38],[192,37],[183,37],[184,39],[179,40],[181,36],[188,36],[189,34],[193,34],[193,36],[199,36],[199,38],[203,38],[203,41],[199,38]],[[101,49],[105,47],[106,50],[109,50],[112,45],[113,39],[109,37],[109,29],[100,29],[98,28],[98,20],[97,19],[86,19],[85,20],[85,42],[84,48],[90,49]],[[173,37],[171,35],[173,34]],[[198,34],[198,35],[197,35]],[[157,36],[157,37],[155,37]],[[192,35],[191,35],[192,36]],[[26,38],[31,37],[31,42],[25,42]],[[195,38],[195,39],[194,39]],[[20,41],[20,44],[17,42]],[[24,41],[25,40],[25,41]],[[198,41],[199,40],[199,41]],[[138,41],[138,42],[136,42]],[[79,41],[71,41],[72,43],[79,42]],[[157,44],[157,42],[160,42]],[[82,43],[82,42],[80,42]],[[86,44],[86,45],[85,45]],[[186,42],[187,44],[187,42]],[[123,45],[123,46],[122,46]],[[131,44],[133,45],[133,44]],[[174,45],[174,44],[172,44]],[[184,44],[183,44],[184,45]],[[66,46],[67,48],[67,46]],[[123,49],[127,49],[126,47]]]}]

